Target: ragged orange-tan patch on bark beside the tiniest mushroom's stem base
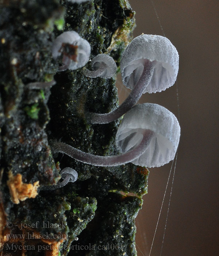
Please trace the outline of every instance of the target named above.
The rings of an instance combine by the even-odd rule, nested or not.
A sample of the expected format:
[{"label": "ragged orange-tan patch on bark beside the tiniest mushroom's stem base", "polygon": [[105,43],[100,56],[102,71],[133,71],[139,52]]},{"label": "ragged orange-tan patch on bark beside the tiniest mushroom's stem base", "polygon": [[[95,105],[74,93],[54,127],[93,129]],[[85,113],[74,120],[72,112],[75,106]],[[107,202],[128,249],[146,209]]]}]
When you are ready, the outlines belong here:
[{"label": "ragged orange-tan patch on bark beside the tiniest mushroom's stem base", "polygon": [[22,175],[18,173],[14,176],[11,171],[9,171],[8,178],[7,185],[11,199],[15,204],[19,204],[20,201],[24,201],[27,198],[35,198],[38,195],[39,181],[34,182],[34,184],[23,183]]}]

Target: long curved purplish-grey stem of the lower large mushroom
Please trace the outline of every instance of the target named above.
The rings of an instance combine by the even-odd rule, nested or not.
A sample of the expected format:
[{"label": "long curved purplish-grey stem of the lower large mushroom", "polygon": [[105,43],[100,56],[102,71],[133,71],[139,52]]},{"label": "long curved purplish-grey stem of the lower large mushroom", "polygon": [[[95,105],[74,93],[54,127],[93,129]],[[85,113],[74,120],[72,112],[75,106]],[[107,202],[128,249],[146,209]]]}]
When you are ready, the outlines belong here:
[{"label": "long curved purplish-grey stem of the lower large mushroom", "polygon": [[63,142],[53,141],[51,143],[51,147],[53,148],[54,152],[64,153],[69,157],[72,157],[83,163],[88,163],[95,166],[118,166],[124,165],[125,163],[130,163],[139,158],[149,146],[153,134],[154,133],[151,130],[145,130],[142,133],[143,138],[138,146],[133,147],[131,150],[124,154],[108,157],[85,153]]}]

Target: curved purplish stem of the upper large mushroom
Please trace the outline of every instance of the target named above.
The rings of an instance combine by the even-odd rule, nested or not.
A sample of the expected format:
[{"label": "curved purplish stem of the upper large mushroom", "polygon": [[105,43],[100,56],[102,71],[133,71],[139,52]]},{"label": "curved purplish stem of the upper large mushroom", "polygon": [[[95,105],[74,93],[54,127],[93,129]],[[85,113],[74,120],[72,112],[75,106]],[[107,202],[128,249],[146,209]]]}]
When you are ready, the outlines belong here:
[{"label": "curved purplish stem of the upper large mushroom", "polygon": [[145,81],[147,81],[147,83],[145,83],[147,85],[150,83],[154,67],[155,61],[149,61],[147,65],[144,65],[144,69],[140,79],[138,80],[138,83],[135,85],[125,101],[117,109],[112,110],[110,113],[106,114],[87,112],[86,117],[88,122],[92,124],[110,123],[130,110],[138,102],[138,100],[141,98],[141,95],[145,91],[145,86],[142,86],[142,83],[145,83]]}]

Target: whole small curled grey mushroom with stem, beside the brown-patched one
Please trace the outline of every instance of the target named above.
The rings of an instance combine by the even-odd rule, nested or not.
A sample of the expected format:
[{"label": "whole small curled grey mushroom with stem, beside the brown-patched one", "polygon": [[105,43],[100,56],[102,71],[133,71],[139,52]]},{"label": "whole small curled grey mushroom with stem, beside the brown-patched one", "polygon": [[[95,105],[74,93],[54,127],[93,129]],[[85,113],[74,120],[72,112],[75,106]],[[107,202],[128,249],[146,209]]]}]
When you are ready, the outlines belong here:
[{"label": "whole small curled grey mushroom with stem, beside the brown-patched one", "polygon": [[85,69],[84,74],[88,77],[111,78],[116,73],[116,63],[112,57],[107,54],[98,54],[91,61],[93,71]]}]

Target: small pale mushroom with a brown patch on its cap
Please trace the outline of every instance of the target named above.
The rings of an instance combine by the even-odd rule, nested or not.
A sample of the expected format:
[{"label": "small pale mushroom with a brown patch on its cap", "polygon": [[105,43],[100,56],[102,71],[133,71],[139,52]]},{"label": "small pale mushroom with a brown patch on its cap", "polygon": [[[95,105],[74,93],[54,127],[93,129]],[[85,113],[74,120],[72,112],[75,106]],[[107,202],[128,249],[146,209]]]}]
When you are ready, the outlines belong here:
[{"label": "small pale mushroom with a brown patch on its cap", "polygon": [[75,31],[64,32],[53,42],[53,58],[62,56],[63,65],[59,67],[59,71],[83,67],[88,62],[90,54],[91,45]]}]

